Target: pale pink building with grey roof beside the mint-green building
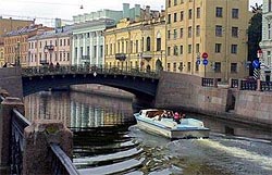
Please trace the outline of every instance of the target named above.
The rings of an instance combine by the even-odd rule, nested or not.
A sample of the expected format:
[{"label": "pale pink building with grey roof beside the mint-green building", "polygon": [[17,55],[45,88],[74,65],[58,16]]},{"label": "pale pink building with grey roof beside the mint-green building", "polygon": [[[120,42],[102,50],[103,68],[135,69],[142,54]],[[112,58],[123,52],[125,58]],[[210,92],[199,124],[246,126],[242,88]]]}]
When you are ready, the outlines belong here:
[{"label": "pale pink building with grey roof beside the mint-green building", "polygon": [[71,64],[71,26],[45,32],[28,39],[28,66]]}]

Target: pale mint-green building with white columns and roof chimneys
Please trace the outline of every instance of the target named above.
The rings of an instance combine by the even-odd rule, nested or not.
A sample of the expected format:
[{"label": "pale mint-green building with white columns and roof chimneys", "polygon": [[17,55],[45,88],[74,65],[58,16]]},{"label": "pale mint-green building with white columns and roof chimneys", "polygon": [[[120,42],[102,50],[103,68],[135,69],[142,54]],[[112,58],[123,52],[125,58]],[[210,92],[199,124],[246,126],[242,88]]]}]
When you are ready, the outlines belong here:
[{"label": "pale mint-green building with white columns and roof chimneys", "polygon": [[140,7],[129,9],[123,3],[123,11],[103,10],[73,16],[72,64],[104,64],[104,29],[114,26],[121,18],[137,20]]}]

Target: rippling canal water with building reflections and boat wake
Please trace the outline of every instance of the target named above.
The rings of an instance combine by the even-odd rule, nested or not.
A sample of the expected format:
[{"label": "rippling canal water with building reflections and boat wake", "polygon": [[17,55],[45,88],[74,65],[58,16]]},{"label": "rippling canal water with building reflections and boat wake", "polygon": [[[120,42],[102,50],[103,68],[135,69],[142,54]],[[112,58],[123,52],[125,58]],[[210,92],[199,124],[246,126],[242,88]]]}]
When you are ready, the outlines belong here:
[{"label": "rippling canal water with building reflections and boat wake", "polygon": [[61,120],[74,133],[73,162],[83,175],[271,175],[272,133],[200,118],[209,139],[171,141],[140,130],[131,99],[79,92],[39,92],[25,99],[26,116]]}]

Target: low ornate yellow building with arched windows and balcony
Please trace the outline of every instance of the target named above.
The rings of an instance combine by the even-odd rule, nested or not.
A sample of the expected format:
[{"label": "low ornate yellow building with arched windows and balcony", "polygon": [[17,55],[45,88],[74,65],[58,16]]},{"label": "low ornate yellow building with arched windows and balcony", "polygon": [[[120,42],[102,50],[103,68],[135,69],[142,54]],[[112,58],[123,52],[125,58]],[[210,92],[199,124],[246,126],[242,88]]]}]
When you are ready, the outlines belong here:
[{"label": "low ornate yellow building with arched windows and balcony", "polygon": [[106,66],[159,71],[165,67],[165,20],[121,20],[104,33]]}]

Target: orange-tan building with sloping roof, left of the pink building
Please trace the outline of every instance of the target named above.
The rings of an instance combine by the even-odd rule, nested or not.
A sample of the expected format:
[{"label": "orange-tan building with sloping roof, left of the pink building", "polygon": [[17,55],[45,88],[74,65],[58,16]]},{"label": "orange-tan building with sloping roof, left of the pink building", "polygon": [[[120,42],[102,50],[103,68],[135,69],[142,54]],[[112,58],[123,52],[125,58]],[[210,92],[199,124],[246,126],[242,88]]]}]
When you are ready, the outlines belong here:
[{"label": "orange-tan building with sloping roof, left of the pink building", "polygon": [[38,33],[52,30],[42,25],[30,25],[7,33],[4,38],[4,61],[12,65],[26,66],[28,63],[28,38]]}]

